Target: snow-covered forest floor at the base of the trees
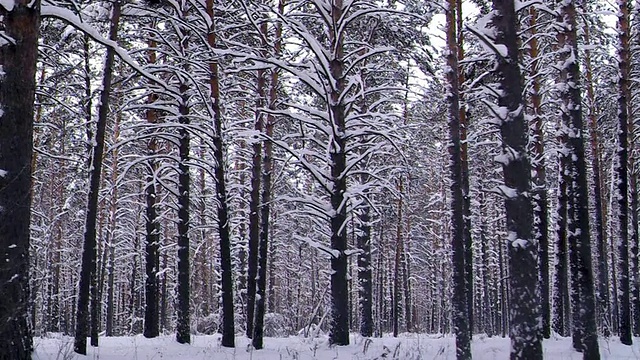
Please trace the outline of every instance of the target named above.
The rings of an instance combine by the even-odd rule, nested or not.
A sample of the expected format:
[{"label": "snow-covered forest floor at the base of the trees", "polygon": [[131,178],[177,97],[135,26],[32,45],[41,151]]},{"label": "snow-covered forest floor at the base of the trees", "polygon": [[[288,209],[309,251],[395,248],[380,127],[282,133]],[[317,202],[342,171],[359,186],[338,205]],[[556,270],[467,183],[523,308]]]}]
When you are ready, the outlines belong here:
[{"label": "snow-covered forest floor at the base of the trees", "polygon": [[[327,338],[302,337],[265,338],[265,348],[251,351],[249,340],[236,338],[235,349],[220,346],[220,336],[192,336],[191,345],[178,344],[173,335],[146,339],[142,335],[132,337],[101,337],[100,346],[88,347],[88,355],[73,352],[73,338],[52,334],[34,339],[34,360],[329,360],[329,359],[455,359],[455,341],[452,336],[403,334],[398,338],[372,338],[371,341],[352,335],[351,345],[331,347]],[[508,359],[509,339],[478,335],[472,344],[476,360]],[[603,359],[640,359],[640,338],[633,346],[620,344],[616,337],[600,339]],[[571,348],[570,338],[552,337],[544,341],[545,359],[581,359],[580,353]]]}]

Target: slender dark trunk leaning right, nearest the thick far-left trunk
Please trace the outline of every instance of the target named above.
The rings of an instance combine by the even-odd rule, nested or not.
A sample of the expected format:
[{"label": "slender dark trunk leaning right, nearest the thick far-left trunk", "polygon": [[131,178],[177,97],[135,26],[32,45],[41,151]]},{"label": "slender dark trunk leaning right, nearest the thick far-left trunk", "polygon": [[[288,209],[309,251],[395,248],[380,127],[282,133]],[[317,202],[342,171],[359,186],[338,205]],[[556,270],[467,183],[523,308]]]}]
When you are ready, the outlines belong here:
[{"label": "slender dark trunk leaning right, nearest the thick far-left trunk", "polygon": [[[114,2],[111,13],[111,28],[109,39],[115,41],[118,34],[120,20],[120,3]],[[85,220],[84,246],[82,251],[82,266],[78,284],[78,307],[76,315],[76,333],[73,350],[78,354],[87,354],[87,335],[89,335],[89,300],[97,296],[96,287],[96,220],[98,216],[98,193],[100,192],[100,175],[104,153],[104,137],[109,116],[109,96],[111,94],[111,79],[115,51],[107,48],[104,63],[104,77],[102,79],[102,93],[98,107],[98,123],[95,133],[91,170],[89,171],[89,195],[87,198],[87,217]],[[97,314],[92,314],[97,316]],[[97,338],[92,337],[91,345],[97,346]]]}]

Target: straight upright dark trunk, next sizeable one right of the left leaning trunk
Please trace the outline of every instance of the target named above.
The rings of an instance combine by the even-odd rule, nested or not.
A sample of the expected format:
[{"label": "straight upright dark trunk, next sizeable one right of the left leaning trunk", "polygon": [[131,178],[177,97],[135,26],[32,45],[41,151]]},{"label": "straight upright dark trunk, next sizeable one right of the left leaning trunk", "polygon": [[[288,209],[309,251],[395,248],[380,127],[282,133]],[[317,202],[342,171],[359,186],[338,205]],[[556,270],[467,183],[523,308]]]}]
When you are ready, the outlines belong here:
[{"label": "straight upright dark trunk, next sizeable one right of the left leaning trunk", "polygon": [[[149,64],[155,64],[156,42],[149,40]],[[149,95],[147,102],[153,104],[157,100],[156,94]],[[146,112],[147,122],[153,126],[158,122],[158,115],[155,109],[148,109]],[[149,155],[148,174],[145,185],[146,198],[146,219],[145,219],[145,310],[144,310],[144,336],[154,338],[160,335],[160,318],[158,313],[159,305],[159,283],[158,271],[160,270],[160,222],[158,221],[156,172],[158,171],[157,161],[154,159],[158,152],[158,140],[154,137],[147,144]]]}]

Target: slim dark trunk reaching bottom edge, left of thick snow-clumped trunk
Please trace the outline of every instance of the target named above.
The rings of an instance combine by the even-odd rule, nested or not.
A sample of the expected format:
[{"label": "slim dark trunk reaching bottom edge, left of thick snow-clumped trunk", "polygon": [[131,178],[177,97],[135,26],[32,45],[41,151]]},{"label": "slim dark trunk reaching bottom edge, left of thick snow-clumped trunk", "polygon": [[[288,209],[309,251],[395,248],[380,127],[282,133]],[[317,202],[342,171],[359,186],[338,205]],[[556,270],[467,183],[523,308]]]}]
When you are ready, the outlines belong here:
[{"label": "slim dark trunk reaching bottom edge, left of thick snow-clumped trunk", "polygon": [[446,12],[447,24],[447,103],[449,106],[449,168],[451,191],[451,235],[453,262],[453,326],[456,336],[456,357],[471,359],[471,331],[469,330],[469,308],[465,267],[464,194],[462,179],[462,149],[460,135],[460,91],[459,67],[456,44],[456,1],[449,0]]}]

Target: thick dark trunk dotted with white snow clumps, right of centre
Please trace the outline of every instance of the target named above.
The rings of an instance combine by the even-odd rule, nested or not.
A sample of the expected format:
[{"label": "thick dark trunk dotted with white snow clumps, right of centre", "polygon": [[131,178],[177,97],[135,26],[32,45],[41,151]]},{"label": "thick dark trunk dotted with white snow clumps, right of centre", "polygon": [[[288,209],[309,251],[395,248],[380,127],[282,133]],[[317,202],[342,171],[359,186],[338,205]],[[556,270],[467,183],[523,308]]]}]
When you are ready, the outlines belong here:
[{"label": "thick dark trunk dotted with white snow clumps, right of centre", "polygon": [[500,118],[500,134],[509,237],[511,359],[542,359],[538,274],[533,271],[537,267],[538,249],[532,234],[533,208],[527,195],[531,193],[531,164],[527,155],[523,77],[518,65],[518,19],[513,1],[494,0],[493,8],[495,41],[506,49],[506,53],[496,54],[495,75],[501,90],[498,106],[506,110],[505,117]]}]

